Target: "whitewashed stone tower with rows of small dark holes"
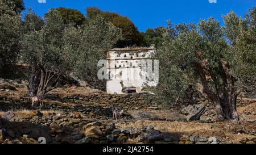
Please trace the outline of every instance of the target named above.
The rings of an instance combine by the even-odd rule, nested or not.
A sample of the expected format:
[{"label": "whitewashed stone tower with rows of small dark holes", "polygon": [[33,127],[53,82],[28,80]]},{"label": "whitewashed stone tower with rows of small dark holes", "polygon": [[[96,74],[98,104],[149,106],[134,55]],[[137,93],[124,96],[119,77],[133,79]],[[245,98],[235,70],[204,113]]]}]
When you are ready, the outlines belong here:
[{"label": "whitewashed stone tower with rows of small dark holes", "polygon": [[110,79],[106,83],[107,93],[139,93],[145,84],[156,86],[156,82],[147,80],[147,73],[144,73],[141,67],[154,52],[156,52],[154,44],[148,48],[114,48],[108,51]]}]

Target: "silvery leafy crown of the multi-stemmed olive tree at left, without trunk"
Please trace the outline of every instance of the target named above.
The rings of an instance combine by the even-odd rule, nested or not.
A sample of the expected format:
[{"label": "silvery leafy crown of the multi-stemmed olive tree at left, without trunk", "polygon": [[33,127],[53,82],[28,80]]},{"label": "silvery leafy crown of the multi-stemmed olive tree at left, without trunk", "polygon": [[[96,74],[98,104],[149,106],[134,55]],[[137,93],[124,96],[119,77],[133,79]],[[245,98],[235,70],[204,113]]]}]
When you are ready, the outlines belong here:
[{"label": "silvery leafy crown of the multi-stemmed olive tree at left, without trunk", "polygon": [[[63,38],[69,27],[65,27],[57,11],[50,10],[49,16],[45,18],[44,26],[38,30],[34,20],[25,20],[28,32],[22,37],[22,58],[24,62],[31,66],[42,66],[44,69],[54,73],[66,73],[71,66],[63,65],[68,61],[63,56],[65,45]],[[27,15],[27,17],[34,16]],[[70,53],[72,55],[72,53]]]}]

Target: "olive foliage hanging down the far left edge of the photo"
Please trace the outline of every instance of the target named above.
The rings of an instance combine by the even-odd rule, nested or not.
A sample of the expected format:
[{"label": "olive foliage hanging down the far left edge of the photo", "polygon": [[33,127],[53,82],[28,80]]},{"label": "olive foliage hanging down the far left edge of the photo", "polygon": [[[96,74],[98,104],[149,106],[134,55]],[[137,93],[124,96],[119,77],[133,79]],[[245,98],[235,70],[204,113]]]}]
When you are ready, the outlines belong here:
[{"label": "olive foliage hanging down the far left edge of the photo", "polygon": [[0,0],[0,70],[14,64],[19,53],[21,20],[13,8],[13,3]]}]

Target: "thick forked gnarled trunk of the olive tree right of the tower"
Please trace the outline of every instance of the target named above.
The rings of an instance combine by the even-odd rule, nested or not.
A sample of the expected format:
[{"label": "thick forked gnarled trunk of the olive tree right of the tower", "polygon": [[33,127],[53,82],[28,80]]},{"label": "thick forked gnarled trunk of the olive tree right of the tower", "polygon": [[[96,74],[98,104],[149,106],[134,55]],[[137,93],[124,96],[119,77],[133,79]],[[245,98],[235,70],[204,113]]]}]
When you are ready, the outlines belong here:
[{"label": "thick forked gnarled trunk of the olive tree right of the tower", "polygon": [[239,116],[237,113],[236,102],[237,96],[239,93],[235,90],[234,87],[234,77],[232,77],[229,73],[228,63],[224,60],[222,62],[222,68],[224,73],[222,75],[223,91],[220,93],[216,93],[210,89],[206,75],[209,75],[209,70],[207,70],[205,61],[201,63],[194,63],[196,66],[197,72],[200,76],[200,81],[203,85],[203,93],[207,94],[207,97],[212,100],[216,107],[217,119],[219,121],[222,120],[239,120]]}]

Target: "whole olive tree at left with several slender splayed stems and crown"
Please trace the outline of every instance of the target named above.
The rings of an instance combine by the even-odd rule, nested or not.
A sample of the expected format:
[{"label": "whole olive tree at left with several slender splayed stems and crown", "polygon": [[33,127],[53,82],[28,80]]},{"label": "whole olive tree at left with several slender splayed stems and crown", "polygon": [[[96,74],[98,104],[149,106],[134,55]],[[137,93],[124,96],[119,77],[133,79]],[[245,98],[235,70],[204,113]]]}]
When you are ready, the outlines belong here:
[{"label": "whole olive tree at left with several slender splayed stems and crown", "polygon": [[[71,72],[67,56],[64,55],[64,41],[69,27],[66,27],[56,10],[49,10],[45,24],[35,28],[36,15],[27,15],[24,25],[28,31],[22,37],[22,58],[30,65],[31,75],[28,81],[28,95],[44,95],[57,86],[62,74]],[[72,41],[72,40],[69,40]],[[68,53],[72,55],[73,53]],[[53,82],[51,82],[53,81]]]}]

